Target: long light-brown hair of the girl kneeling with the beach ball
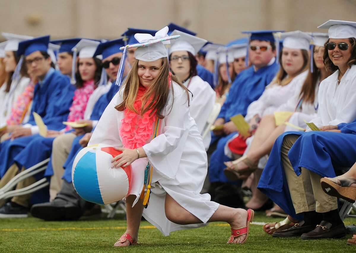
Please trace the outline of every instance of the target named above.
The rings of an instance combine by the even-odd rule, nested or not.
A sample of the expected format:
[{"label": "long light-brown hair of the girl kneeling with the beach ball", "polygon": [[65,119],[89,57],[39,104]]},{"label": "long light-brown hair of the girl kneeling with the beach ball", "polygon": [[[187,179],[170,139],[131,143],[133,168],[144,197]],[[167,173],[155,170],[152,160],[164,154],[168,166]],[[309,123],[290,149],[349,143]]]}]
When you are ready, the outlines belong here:
[{"label": "long light-brown hair of the girl kneeling with the beach ball", "polygon": [[[173,92],[172,83],[168,85],[168,75],[169,75],[168,59],[166,57],[161,59],[162,59],[162,67],[159,69],[159,74],[157,78],[153,80],[152,84],[150,85],[150,87],[147,88],[147,91],[141,98],[142,99],[141,117],[145,112],[153,109],[152,112],[156,111],[157,117],[159,119],[163,119],[164,114],[161,114],[161,111],[167,104],[170,90],[172,90],[172,104],[170,108],[172,109],[174,92]],[[124,92],[122,95],[123,101],[122,103],[115,106],[115,109],[117,111],[122,112],[126,108],[128,108],[130,111],[138,113],[136,109],[133,107],[133,103],[135,102],[137,92],[138,92],[138,86],[140,85],[140,82],[138,80],[137,70],[138,70],[138,60],[136,59],[135,63],[132,66],[132,69],[130,70],[129,74],[124,80],[124,83],[122,84],[124,88]],[[171,75],[171,79],[172,81],[176,82],[180,87],[182,87],[182,89],[187,93],[187,101],[189,106],[190,104],[189,90],[178,80],[177,76]]]}]

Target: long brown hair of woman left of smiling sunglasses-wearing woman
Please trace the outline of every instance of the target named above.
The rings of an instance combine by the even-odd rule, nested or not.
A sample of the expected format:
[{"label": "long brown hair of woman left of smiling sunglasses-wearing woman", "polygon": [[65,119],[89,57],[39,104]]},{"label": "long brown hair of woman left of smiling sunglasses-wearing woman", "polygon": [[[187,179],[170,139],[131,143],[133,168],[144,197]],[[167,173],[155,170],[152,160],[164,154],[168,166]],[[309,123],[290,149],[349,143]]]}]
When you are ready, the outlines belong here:
[{"label": "long brown hair of woman left of smiling sunglasses-wearing woman", "polygon": [[[314,54],[314,52],[313,52]],[[313,55],[314,57],[314,55]],[[307,78],[304,81],[304,84],[302,86],[302,89],[300,90],[300,98],[303,99],[303,102],[309,102],[310,104],[314,103],[315,100],[315,88],[316,85],[318,85],[317,81],[318,78],[320,77],[320,69],[316,66],[315,64],[315,59],[313,61],[313,68],[314,72],[310,72],[310,69],[308,71]],[[330,71],[327,71],[327,75],[329,76],[331,74]]]}]

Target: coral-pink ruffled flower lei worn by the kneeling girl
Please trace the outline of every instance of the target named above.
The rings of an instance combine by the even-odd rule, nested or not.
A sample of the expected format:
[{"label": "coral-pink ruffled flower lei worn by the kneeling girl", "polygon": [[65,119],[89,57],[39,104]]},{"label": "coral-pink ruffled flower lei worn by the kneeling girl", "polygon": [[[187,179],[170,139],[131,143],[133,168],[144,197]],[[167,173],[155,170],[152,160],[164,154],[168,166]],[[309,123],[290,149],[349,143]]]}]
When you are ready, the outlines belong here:
[{"label": "coral-pink ruffled flower lei worn by the kneeling girl", "polygon": [[151,114],[153,111],[153,109],[151,109],[145,112],[143,117],[141,117],[142,96],[146,90],[147,89],[141,84],[138,87],[137,96],[133,103],[133,108],[135,108],[138,113],[126,108],[124,110],[124,118],[121,119],[120,136],[122,144],[128,149],[142,147],[153,133],[153,123],[155,123],[156,113]]}]

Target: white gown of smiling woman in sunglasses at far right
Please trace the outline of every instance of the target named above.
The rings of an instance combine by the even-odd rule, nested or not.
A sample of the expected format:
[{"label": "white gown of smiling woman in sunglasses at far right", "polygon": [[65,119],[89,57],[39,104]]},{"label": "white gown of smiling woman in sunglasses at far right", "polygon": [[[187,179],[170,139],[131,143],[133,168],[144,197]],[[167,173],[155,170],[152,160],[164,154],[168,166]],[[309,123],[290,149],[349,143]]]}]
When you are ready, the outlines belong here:
[{"label": "white gown of smiling woman in sunglasses at far right", "polygon": [[318,115],[312,120],[318,127],[349,123],[356,118],[356,65],[346,70],[340,84],[338,75],[339,70],[320,83]]}]

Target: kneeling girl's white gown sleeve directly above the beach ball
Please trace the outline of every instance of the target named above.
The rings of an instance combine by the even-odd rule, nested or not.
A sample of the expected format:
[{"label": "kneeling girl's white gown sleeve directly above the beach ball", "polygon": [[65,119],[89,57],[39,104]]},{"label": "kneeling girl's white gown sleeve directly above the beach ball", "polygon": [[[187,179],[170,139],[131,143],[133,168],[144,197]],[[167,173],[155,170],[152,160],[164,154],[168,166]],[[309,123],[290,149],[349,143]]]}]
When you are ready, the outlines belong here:
[{"label": "kneeling girl's white gown sleeve directly above the beach ball", "polygon": [[115,109],[115,106],[119,103],[121,103],[121,98],[120,93],[117,92],[106,107],[103,115],[101,115],[88,145],[102,143],[110,146],[122,147],[119,129],[121,128],[123,112],[119,112]]}]

